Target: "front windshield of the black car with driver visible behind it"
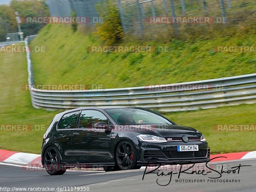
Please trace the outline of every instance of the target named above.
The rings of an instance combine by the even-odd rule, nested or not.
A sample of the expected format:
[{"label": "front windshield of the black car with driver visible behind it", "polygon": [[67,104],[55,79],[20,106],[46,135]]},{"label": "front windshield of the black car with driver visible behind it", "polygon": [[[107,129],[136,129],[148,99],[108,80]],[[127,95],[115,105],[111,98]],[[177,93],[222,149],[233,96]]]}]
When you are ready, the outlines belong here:
[{"label": "front windshield of the black car with driver visible behind it", "polygon": [[172,122],[149,110],[119,108],[106,110],[119,125],[157,124],[172,125]]}]

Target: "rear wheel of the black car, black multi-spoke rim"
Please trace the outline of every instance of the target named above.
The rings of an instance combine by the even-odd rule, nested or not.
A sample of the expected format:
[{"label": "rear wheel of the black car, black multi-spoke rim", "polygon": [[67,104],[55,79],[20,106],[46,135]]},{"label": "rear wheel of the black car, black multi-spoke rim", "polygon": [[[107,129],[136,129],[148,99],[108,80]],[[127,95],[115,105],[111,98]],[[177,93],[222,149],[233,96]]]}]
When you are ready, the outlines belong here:
[{"label": "rear wheel of the black car, black multi-spoke rim", "polygon": [[61,165],[60,154],[54,147],[49,147],[44,153],[44,167],[50,175],[63,175],[66,167]]}]

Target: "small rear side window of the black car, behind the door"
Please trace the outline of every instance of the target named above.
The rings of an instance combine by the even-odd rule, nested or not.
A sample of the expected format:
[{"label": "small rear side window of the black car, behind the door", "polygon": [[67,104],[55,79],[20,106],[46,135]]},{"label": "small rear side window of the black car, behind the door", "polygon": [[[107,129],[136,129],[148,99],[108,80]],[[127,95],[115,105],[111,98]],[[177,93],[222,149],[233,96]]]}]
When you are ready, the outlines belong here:
[{"label": "small rear side window of the black car, behind the door", "polygon": [[76,120],[79,115],[79,111],[65,114],[58,124],[59,129],[71,129],[76,128]]}]

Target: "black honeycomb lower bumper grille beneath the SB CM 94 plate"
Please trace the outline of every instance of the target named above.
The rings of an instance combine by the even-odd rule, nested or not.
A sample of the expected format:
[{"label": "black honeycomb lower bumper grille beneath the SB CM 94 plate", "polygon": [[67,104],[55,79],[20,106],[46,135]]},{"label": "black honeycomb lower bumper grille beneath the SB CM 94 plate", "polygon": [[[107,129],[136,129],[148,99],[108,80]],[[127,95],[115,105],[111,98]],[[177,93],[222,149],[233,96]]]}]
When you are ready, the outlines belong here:
[{"label": "black honeycomb lower bumper grille beneath the SB CM 94 plate", "polygon": [[199,151],[162,151],[169,159],[185,159],[185,158],[204,158],[207,155],[207,149]]}]

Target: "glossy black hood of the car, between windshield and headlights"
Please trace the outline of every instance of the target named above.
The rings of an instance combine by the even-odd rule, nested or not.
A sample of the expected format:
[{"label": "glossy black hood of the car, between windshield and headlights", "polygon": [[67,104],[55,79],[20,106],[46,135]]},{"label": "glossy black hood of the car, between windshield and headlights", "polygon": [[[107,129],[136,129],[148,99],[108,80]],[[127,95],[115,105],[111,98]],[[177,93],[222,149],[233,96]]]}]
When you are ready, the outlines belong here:
[{"label": "glossy black hood of the car, between windshield and headlights", "polygon": [[201,133],[192,127],[182,125],[129,125],[122,129],[129,129],[140,134],[151,134],[161,137],[201,136]]}]

